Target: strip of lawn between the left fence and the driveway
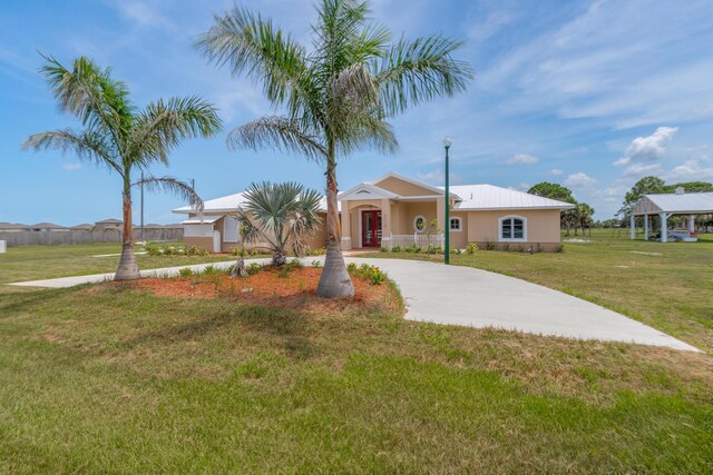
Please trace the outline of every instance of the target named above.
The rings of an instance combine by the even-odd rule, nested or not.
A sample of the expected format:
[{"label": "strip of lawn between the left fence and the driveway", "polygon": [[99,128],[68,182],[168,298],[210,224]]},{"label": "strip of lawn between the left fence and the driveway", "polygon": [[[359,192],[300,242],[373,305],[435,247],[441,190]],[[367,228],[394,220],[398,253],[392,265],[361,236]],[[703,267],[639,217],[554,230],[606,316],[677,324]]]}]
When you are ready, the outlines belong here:
[{"label": "strip of lawn between the left fence and the driveway", "polygon": [[[141,247],[136,246],[136,250],[140,251]],[[7,254],[0,254],[0,285],[55,277],[114,273],[119,265],[119,256],[92,257],[107,254],[121,254],[121,244],[97,243],[10,247]],[[232,259],[227,255],[219,257],[137,255],[136,258],[138,259],[139,269],[156,269]],[[7,288],[4,290],[7,291]]]}]

